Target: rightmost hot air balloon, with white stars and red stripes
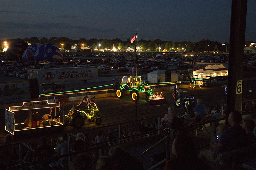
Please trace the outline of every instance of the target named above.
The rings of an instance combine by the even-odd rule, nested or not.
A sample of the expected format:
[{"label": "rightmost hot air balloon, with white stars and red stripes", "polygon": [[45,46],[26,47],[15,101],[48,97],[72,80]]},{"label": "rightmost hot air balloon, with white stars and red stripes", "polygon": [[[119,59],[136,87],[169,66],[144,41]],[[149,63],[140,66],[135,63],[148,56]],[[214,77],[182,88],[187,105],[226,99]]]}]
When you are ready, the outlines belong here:
[{"label": "rightmost hot air balloon, with white stars and red stripes", "polygon": [[59,61],[63,60],[60,49],[51,43],[41,45],[34,55],[34,61]]}]

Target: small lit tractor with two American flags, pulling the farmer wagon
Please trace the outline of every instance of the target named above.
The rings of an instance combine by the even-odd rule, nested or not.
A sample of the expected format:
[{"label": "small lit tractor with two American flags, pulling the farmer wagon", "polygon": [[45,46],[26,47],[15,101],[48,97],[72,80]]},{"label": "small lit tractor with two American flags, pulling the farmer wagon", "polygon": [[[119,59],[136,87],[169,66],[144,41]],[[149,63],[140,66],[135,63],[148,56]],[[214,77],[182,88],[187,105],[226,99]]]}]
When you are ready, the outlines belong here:
[{"label": "small lit tractor with two American flags, pulling the farmer wagon", "polygon": [[71,125],[73,128],[79,129],[84,126],[84,120],[87,119],[88,122],[95,122],[96,125],[100,125],[102,120],[100,114],[98,114],[99,109],[96,104],[89,104],[86,110],[69,110],[68,115],[65,115],[64,121],[66,125]]}]

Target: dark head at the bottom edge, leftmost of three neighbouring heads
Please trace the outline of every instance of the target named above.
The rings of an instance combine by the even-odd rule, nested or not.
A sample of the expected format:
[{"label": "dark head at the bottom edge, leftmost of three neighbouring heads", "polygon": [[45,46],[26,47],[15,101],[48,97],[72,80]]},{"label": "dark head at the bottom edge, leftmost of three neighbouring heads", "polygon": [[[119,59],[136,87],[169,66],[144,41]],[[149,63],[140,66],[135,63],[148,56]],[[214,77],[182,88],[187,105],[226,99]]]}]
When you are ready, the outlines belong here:
[{"label": "dark head at the bottom edge, leftmost of three neighbouring heads", "polygon": [[75,170],[92,170],[92,159],[87,154],[81,154],[74,161]]}]

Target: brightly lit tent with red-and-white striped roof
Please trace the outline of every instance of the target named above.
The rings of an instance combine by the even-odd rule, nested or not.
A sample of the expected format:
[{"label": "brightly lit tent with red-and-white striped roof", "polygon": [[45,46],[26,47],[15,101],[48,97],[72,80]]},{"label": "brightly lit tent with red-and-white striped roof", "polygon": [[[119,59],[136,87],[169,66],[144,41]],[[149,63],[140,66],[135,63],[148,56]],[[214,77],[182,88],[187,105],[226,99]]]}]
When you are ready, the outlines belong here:
[{"label": "brightly lit tent with red-and-white striped roof", "polygon": [[228,75],[228,69],[223,64],[207,65],[203,69],[194,71],[193,75],[198,76],[198,78],[201,78],[203,76],[211,76],[211,77],[227,76]]}]

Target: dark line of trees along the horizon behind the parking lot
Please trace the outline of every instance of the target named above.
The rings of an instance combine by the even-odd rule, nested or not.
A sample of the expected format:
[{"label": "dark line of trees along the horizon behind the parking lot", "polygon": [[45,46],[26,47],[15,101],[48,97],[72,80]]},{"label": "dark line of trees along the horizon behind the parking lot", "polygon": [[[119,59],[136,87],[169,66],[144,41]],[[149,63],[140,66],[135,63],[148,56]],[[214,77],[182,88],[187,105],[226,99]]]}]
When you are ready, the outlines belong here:
[{"label": "dark line of trees along the horizon behind the parking lot", "polygon": [[[79,40],[71,40],[66,37],[51,37],[50,39],[47,39],[46,37],[41,38],[40,40],[37,37],[31,37],[24,38],[24,39],[9,39],[5,40],[8,42],[8,44],[11,44],[14,41],[25,41],[27,43],[52,43],[56,45],[58,48],[63,47],[65,50],[71,49],[72,46],[76,46],[76,49],[80,49],[80,46],[84,46],[85,48],[103,48],[103,49],[112,49],[113,47],[117,48],[117,50],[122,50],[127,47],[136,48],[136,41],[131,43],[129,41],[130,39],[127,39],[126,41],[123,41],[121,39],[113,39],[113,40],[106,40],[106,39],[95,39],[92,38],[90,40],[86,40],[85,38],[81,38]],[[246,41],[246,43],[250,44],[252,41]],[[3,44],[3,43],[1,43]],[[210,40],[201,40],[198,42],[191,42],[191,41],[181,41],[181,42],[173,42],[173,41],[162,41],[160,39],[156,40],[139,40],[138,41],[138,47],[140,48],[140,51],[158,51],[159,48],[161,51],[164,49],[168,52],[171,51],[187,51],[187,52],[204,52],[204,51],[217,51],[217,48],[220,52],[226,52],[228,51],[229,44],[226,42],[225,45],[223,45],[220,42],[217,41],[210,41]],[[217,46],[217,48],[216,48]]]}]

